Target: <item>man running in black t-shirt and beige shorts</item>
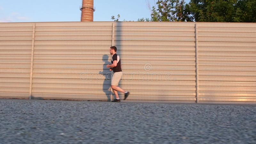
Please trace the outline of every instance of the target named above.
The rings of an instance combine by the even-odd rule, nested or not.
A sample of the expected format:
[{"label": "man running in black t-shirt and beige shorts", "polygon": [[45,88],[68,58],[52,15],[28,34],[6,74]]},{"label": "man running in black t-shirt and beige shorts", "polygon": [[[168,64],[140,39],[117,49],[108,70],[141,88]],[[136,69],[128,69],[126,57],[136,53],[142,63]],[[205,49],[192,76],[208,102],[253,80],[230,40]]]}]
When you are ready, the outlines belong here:
[{"label": "man running in black t-shirt and beige shorts", "polygon": [[118,86],[118,83],[123,76],[123,72],[121,68],[121,60],[120,60],[120,57],[116,54],[116,51],[117,51],[117,48],[115,46],[110,47],[109,52],[112,55],[112,58],[111,58],[112,64],[107,65],[107,68],[110,68],[110,70],[113,70],[114,72],[114,75],[111,78],[111,88],[113,89],[113,92],[116,95],[116,99],[112,100],[112,102],[120,102],[118,92],[124,93],[124,100],[130,94],[130,92],[125,92],[122,88]]}]

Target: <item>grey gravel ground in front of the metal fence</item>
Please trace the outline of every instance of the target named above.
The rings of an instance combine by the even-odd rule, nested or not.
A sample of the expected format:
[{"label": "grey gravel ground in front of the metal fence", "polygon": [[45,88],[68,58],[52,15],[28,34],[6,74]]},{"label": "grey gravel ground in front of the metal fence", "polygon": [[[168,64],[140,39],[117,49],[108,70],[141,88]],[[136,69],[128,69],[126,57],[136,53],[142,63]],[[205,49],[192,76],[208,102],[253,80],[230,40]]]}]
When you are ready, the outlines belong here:
[{"label": "grey gravel ground in front of the metal fence", "polygon": [[0,100],[0,143],[256,143],[255,105]]}]

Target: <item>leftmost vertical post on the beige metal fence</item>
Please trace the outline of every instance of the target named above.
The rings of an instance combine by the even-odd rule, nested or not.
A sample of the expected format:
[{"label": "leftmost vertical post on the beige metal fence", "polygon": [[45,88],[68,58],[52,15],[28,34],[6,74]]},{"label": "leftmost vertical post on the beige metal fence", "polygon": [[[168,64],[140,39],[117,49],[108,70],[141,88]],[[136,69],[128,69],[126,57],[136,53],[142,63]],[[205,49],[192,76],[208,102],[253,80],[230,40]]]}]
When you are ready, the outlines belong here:
[{"label": "leftmost vertical post on the beige metal fence", "polygon": [[36,31],[36,23],[33,24],[33,33],[32,33],[31,61],[30,61],[30,80],[29,80],[29,99],[32,99],[32,79],[33,79],[33,61],[34,61],[35,31]]}]

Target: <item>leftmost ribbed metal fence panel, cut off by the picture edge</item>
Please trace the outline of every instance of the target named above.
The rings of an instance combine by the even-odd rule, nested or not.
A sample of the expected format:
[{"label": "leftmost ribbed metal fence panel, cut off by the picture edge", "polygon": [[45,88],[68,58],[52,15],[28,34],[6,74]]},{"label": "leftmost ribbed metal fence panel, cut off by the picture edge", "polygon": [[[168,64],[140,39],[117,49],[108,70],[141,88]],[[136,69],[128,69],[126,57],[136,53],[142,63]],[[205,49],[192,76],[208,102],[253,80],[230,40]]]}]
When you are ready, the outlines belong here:
[{"label": "leftmost ribbed metal fence panel, cut off by the picture edge", "polygon": [[28,99],[32,23],[0,24],[0,98]]}]

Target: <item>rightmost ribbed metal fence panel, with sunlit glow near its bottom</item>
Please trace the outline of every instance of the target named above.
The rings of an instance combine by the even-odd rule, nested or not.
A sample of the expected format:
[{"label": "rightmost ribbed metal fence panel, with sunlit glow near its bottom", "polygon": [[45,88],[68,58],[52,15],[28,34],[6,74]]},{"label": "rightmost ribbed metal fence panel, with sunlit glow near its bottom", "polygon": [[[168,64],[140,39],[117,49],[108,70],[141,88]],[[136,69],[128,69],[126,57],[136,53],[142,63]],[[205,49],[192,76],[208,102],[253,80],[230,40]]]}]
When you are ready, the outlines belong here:
[{"label": "rightmost ribbed metal fence panel, with sunlit glow near its bottom", "polygon": [[197,26],[199,102],[256,102],[256,25]]}]

